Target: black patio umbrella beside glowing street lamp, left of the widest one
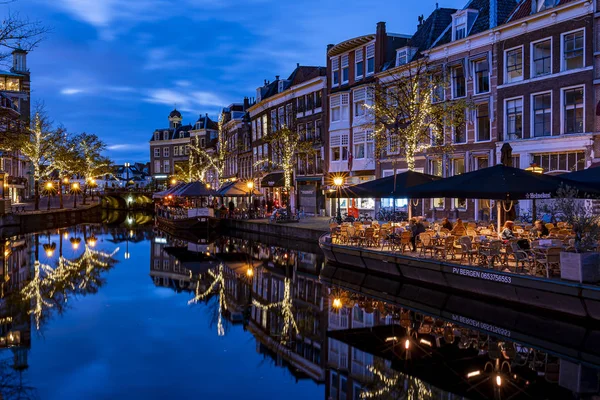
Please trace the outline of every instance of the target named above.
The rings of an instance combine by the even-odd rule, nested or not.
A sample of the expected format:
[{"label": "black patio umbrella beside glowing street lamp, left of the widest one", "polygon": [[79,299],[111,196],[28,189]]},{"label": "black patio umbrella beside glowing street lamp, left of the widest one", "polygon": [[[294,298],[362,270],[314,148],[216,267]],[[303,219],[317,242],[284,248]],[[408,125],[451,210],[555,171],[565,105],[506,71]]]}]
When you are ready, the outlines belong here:
[{"label": "black patio umbrella beside glowing street lamp, left of the widest one", "polygon": [[[340,189],[342,198],[402,198],[411,197],[408,195],[407,188],[434,182],[441,179],[439,176],[422,174],[415,171],[406,171],[395,176],[386,176],[385,178],[375,179],[359,185]],[[336,198],[337,191],[327,194],[329,198]]]}]

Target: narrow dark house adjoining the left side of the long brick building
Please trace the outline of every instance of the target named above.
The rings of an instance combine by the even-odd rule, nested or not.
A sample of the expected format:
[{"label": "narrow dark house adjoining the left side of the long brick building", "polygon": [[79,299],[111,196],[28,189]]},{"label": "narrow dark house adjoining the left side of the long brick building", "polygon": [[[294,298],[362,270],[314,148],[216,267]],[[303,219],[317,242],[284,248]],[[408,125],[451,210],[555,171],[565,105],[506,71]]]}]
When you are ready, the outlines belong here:
[{"label": "narrow dark house adjoining the left side of the long brick building", "polygon": [[250,100],[230,104],[221,111],[220,123],[227,157],[221,180],[252,178],[252,132],[247,109]]}]

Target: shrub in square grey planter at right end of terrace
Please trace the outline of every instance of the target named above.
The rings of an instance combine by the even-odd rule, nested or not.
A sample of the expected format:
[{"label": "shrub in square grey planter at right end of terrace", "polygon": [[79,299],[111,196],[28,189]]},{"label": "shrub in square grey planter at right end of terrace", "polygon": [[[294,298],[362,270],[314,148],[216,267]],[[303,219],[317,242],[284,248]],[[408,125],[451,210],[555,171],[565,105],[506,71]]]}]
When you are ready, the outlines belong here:
[{"label": "shrub in square grey planter at right end of terrace", "polygon": [[600,216],[594,213],[590,200],[578,199],[577,190],[561,187],[555,208],[558,217],[573,227],[574,240],[560,253],[560,277],[583,282],[600,281]]}]

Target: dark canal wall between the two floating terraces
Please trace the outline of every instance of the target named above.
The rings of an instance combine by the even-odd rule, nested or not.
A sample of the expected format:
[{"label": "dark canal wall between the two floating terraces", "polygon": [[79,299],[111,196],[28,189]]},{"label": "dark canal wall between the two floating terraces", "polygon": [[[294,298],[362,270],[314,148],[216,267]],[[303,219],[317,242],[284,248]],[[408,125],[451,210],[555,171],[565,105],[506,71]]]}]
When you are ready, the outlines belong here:
[{"label": "dark canal wall between the two floating terraces", "polygon": [[258,235],[275,236],[285,239],[311,241],[318,243],[325,230],[307,226],[302,222],[275,224],[268,221],[246,221],[239,219],[222,219],[221,228],[225,232],[252,232]]}]

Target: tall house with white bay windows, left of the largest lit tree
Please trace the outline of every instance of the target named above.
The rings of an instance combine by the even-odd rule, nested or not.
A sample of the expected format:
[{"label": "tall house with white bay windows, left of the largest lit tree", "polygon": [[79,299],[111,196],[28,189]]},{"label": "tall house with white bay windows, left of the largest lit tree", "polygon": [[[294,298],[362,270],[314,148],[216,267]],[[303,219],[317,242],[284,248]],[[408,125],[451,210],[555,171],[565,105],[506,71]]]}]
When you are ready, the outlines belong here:
[{"label": "tall house with white bay windows, left of the largest lit tree", "polygon": [[[327,46],[329,146],[325,148],[330,176],[344,175],[346,184],[375,178],[369,87],[383,66],[395,58],[395,50],[406,46],[409,38],[388,33],[385,23],[379,22],[375,34]],[[358,205],[360,209],[374,209],[372,199],[363,200],[364,204]]]}]

